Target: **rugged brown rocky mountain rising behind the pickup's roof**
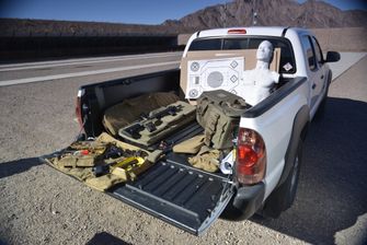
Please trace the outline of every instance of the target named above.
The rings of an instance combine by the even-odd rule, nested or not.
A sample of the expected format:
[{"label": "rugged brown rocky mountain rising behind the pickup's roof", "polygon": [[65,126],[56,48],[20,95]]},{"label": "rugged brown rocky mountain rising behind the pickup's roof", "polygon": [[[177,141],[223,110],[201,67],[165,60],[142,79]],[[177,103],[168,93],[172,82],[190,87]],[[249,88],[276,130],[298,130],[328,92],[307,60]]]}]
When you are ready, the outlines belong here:
[{"label": "rugged brown rocky mountain rising behind the pickup's roof", "polygon": [[[256,18],[254,16],[256,14]],[[308,0],[233,0],[188,14],[163,25],[177,30],[256,25],[309,28],[367,26],[367,11],[342,11],[326,2]]]}]

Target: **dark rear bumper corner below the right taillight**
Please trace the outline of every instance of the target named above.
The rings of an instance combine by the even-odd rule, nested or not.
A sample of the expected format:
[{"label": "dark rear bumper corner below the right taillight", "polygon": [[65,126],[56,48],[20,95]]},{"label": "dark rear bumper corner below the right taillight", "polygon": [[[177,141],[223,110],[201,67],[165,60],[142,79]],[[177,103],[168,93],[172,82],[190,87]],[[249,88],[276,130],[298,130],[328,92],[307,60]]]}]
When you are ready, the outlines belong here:
[{"label": "dark rear bumper corner below the right taillight", "polygon": [[264,183],[254,186],[243,186],[237,191],[228,205],[223,218],[230,220],[245,220],[252,217],[262,206],[265,195]]}]

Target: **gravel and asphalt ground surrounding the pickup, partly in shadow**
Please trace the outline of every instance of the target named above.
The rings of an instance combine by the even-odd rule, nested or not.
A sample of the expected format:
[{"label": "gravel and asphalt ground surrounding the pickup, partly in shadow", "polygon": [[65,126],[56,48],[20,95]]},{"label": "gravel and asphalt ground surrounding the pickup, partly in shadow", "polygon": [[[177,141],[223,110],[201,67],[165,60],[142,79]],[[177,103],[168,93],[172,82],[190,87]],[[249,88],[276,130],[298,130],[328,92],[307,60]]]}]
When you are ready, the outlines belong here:
[{"label": "gravel and asphalt ground surrounding the pickup, partly in shadow", "polygon": [[[0,84],[26,78],[173,62],[179,57],[169,55],[147,61],[144,57],[117,59],[122,60],[0,67]],[[77,65],[70,65],[74,61]],[[15,69],[27,66],[34,68]],[[367,57],[340,72],[333,81],[324,117],[312,122],[305,143],[296,202],[276,220],[219,219],[196,237],[92,190],[37,160],[68,145],[78,133],[73,110],[80,85],[174,67],[177,66],[151,66],[0,86],[0,244],[367,242]]]}]

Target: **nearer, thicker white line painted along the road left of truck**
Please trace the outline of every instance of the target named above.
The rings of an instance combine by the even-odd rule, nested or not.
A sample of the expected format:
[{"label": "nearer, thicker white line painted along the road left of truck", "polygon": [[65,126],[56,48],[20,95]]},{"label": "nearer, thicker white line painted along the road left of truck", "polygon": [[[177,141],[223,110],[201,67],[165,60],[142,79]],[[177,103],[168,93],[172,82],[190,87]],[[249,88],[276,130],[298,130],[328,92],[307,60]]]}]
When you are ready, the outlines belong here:
[{"label": "nearer, thicker white line painted along the road left of truck", "polygon": [[32,82],[42,82],[42,81],[56,80],[56,79],[68,79],[68,78],[76,78],[76,77],[83,77],[83,75],[103,74],[103,73],[111,73],[111,72],[126,71],[126,70],[135,70],[135,69],[141,69],[141,68],[163,67],[163,66],[170,66],[170,65],[177,65],[179,66],[180,61],[148,63],[148,65],[121,67],[121,68],[110,68],[110,69],[94,70],[94,71],[81,71],[81,72],[45,75],[45,77],[36,77],[36,78],[28,78],[28,79],[14,79],[14,80],[8,80],[8,81],[0,81],[0,86],[9,86],[9,85],[15,85],[15,84],[22,84],[22,83],[32,83]]}]

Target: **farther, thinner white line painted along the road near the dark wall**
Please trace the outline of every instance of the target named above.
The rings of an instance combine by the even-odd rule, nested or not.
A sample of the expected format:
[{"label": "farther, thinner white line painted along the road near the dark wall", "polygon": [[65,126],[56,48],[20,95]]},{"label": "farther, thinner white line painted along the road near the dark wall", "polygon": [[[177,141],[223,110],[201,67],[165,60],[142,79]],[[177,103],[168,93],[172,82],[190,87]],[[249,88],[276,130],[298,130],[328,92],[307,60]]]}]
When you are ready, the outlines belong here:
[{"label": "farther, thinner white line painted along the road near the dark wall", "polygon": [[64,67],[64,66],[84,65],[84,63],[114,62],[114,61],[133,60],[133,59],[174,57],[174,56],[181,56],[181,55],[182,52],[157,52],[157,54],[149,54],[149,55],[115,56],[115,57],[100,57],[100,58],[84,58],[84,59],[39,61],[39,62],[28,62],[28,63],[0,65],[0,71]]}]

